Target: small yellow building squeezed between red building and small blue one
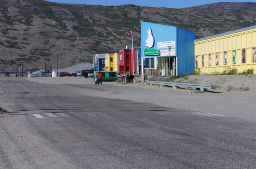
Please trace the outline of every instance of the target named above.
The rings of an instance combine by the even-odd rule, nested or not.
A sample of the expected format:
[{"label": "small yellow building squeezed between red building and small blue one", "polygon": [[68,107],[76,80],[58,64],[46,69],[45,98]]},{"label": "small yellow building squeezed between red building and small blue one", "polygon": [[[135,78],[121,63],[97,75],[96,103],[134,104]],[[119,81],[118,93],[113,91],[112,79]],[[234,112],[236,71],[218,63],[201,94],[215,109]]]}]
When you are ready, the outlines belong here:
[{"label": "small yellow building squeezed between red building and small blue one", "polygon": [[104,71],[118,71],[118,54],[105,54]]}]

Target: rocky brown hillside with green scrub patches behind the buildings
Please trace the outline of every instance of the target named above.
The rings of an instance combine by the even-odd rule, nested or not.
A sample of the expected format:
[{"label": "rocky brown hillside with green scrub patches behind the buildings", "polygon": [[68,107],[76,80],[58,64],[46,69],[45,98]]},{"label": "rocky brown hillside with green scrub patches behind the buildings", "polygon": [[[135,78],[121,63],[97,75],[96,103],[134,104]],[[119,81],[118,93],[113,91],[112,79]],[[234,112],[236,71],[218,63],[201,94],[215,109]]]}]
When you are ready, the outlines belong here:
[{"label": "rocky brown hillside with green scrub patches behind the buildings", "polygon": [[0,70],[67,68],[95,54],[140,47],[140,21],[172,25],[196,38],[256,25],[256,3],[214,3],[191,8],[93,6],[44,0],[0,0]]}]

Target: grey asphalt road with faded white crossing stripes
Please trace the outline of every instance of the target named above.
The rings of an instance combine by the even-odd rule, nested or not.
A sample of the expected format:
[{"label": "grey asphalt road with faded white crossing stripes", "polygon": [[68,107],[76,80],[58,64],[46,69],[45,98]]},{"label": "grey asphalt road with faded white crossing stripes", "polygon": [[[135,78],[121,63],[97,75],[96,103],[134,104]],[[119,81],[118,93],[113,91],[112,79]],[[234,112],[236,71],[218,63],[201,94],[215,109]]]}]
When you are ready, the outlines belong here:
[{"label": "grey asphalt road with faded white crossing stripes", "polygon": [[164,92],[125,88],[0,79],[1,167],[255,168],[253,121],[85,94]]}]

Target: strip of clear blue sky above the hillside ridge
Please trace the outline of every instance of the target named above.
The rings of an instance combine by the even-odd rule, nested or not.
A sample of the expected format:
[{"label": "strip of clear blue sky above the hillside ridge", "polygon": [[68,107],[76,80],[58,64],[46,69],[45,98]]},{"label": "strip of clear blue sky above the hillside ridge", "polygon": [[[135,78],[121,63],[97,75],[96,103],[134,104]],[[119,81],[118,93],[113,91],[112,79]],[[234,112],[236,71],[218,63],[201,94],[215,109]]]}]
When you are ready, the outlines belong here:
[{"label": "strip of clear blue sky above the hillside ridge", "polygon": [[119,6],[133,4],[137,6],[186,8],[218,2],[253,2],[256,0],[47,0],[56,3],[77,3],[86,5]]}]

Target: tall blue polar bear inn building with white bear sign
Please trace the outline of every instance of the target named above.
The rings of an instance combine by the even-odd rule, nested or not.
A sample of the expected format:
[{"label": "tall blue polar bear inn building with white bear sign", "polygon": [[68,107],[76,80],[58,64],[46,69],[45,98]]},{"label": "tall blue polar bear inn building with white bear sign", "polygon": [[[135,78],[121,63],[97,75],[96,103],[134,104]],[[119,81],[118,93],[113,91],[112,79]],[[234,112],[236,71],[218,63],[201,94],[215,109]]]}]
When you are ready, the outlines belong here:
[{"label": "tall blue polar bear inn building with white bear sign", "polygon": [[194,70],[195,33],[141,22],[141,69],[147,76],[180,76]]}]

